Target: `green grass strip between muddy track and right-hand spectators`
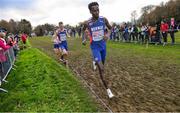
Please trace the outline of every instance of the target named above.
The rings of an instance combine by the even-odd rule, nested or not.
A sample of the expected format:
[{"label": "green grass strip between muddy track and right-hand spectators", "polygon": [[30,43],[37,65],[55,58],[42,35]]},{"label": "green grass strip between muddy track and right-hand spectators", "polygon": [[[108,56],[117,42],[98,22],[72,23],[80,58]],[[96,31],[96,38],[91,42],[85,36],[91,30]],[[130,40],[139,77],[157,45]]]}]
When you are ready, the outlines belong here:
[{"label": "green grass strip between muddy track and right-hand spectators", "polygon": [[145,45],[139,44],[109,42],[107,48],[108,51],[111,51],[111,54],[117,54],[119,57],[164,60],[180,64],[180,45],[168,45],[165,47],[162,45],[149,45],[148,48],[146,48]]}]

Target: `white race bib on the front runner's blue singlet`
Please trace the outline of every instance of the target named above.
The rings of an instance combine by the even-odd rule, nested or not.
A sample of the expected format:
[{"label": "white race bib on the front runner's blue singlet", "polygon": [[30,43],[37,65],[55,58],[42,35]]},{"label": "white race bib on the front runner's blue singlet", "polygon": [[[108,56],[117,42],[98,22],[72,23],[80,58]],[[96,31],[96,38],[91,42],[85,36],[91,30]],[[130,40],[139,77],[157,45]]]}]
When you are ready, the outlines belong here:
[{"label": "white race bib on the front runner's blue singlet", "polygon": [[92,38],[93,38],[93,41],[102,40],[104,38],[104,30],[93,31],[92,32]]}]

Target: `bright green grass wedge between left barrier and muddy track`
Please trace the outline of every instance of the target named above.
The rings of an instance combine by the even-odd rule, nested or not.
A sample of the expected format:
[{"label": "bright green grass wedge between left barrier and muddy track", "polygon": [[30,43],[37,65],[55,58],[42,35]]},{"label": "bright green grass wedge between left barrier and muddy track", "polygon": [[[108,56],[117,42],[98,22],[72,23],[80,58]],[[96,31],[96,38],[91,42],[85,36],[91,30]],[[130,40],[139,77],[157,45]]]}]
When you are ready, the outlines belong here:
[{"label": "bright green grass wedge between left barrier and muddy track", "polygon": [[0,112],[95,112],[97,105],[71,72],[38,49],[25,49],[0,93]]}]

